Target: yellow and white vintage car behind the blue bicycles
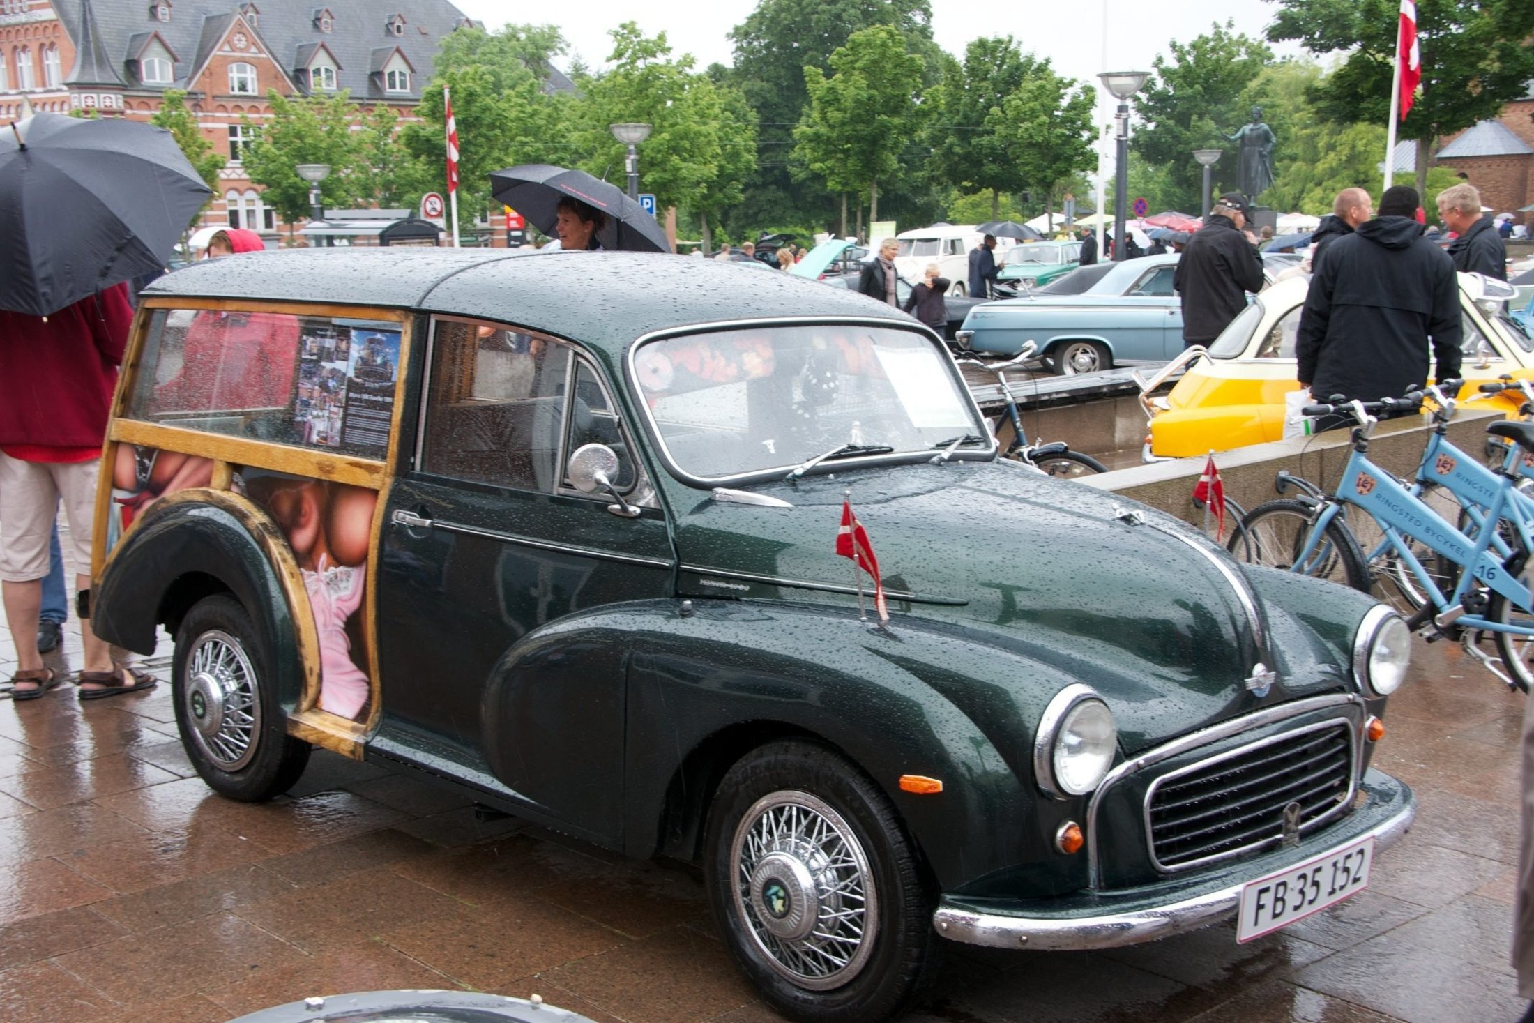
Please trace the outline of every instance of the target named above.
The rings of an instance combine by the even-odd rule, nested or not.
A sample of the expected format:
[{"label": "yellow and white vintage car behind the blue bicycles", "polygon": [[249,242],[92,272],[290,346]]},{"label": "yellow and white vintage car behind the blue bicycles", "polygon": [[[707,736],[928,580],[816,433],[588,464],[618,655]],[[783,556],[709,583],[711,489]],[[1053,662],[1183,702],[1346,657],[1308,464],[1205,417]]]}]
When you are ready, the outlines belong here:
[{"label": "yellow and white vintage car behind the blue bicycles", "polygon": [[[1144,460],[1186,459],[1284,437],[1284,396],[1299,390],[1295,339],[1310,278],[1284,278],[1252,299],[1224,333],[1204,348],[1189,348],[1155,376],[1140,373],[1140,403],[1149,417]],[[1503,294],[1506,291],[1506,294]],[[1465,321],[1465,388],[1503,373],[1534,379],[1534,337],[1506,313],[1513,290],[1479,273],[1459,275]],[[1183,379],[1161,397],[1161,383],[1186,367]],[[1516,413],[1517,400],[1497,396],[1488,406]]]}]

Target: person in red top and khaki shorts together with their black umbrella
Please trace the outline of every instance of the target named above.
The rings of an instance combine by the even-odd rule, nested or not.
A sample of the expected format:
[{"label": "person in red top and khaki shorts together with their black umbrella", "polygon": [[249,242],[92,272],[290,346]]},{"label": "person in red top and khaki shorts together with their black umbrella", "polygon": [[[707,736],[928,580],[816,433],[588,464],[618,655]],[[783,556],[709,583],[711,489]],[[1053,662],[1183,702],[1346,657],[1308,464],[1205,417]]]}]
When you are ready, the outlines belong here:
[{"label": "person in red top and khaki shorts together with their black umbrella", "polygon": [[[132,322],[126,282],[164,268],[212,190],[160,127],[55,113],[9,127],[0,135],[0,595],[17,652],[11,695],[29,701],[60,683],[37,646],[60,500],[75,583],[91,587],[101,445]],[[81,699],[155,684],[115,667],[84,615],[80,633]]]}]

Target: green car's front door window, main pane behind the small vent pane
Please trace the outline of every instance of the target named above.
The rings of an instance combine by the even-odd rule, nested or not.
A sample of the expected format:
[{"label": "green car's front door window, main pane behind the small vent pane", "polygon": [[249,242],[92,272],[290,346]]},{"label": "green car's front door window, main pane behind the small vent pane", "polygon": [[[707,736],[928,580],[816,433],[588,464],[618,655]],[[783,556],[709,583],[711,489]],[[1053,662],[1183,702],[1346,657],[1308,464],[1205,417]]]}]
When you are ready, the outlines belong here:
[{"label": "green car's front door window, main pane behind the small vent pane", "polygon": [[489,324],[439,319],[420,469],[552,492],[571,350]]}]

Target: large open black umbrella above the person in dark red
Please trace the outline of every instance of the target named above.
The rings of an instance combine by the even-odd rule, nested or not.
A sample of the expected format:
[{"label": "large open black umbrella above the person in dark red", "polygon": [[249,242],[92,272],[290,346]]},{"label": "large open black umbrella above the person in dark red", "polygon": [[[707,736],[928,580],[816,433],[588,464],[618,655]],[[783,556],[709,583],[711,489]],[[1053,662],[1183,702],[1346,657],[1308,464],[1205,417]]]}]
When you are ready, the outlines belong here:
[{"label": "large open black umbrella above the person in dark red", "polygon": [[213,193],[163,127],[38,113],[9,129],[0,135],[0,308],[14,313],[48,316],[164,270]]}]

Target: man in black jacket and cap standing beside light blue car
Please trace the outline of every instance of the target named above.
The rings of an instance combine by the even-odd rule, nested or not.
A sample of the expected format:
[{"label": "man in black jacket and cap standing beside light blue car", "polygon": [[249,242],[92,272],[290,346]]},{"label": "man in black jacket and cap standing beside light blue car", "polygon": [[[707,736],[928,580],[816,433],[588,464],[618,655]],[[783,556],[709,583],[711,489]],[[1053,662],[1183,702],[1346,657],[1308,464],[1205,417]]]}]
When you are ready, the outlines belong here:
[{"label": "man in black jacket and cap standing beside light blue car", "polygon": [[1172,287],[1183,296],[1183,347],[1207,345],[1262,287],[1262,256],[1241,233],[1247,199],[1226,192],[1177,261]]}]

